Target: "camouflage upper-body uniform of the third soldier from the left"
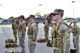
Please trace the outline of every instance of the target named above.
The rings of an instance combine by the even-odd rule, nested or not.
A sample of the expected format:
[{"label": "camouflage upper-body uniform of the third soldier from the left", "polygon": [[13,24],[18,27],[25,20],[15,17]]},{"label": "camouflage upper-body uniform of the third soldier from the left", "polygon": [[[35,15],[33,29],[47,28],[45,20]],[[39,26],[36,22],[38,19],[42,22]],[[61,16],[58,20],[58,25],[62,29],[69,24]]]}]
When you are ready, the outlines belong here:
[{"label": "camouflage upper-body uniform of the third soldier from the left", "polygon": [[36,23],[28,24],[27,34],[29,35],[29,38],[36,37],[37,32],[38,32],[38,26]]}]

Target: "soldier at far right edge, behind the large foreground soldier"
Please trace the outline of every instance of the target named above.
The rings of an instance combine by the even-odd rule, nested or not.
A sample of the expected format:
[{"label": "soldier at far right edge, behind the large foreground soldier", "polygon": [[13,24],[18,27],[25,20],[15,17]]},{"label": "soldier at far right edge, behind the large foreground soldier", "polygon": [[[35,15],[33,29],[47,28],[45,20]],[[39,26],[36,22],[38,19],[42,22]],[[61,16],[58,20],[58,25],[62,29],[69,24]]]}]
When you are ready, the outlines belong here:
[{"label": "soldier at far right edge, behind the large foreground soldier", "polygon": [[[73,23],[73,26],[71,26],[71,24]],[[74,20],[74,22],[70,23],[70,27],[72,29],[72,33],[73,33],[73,43],[74,43],[74,48],[76,50],[76,53],[78,53],[79,51],[79,35],[80,35],[80,29],[77,26],[77,21]]]}]

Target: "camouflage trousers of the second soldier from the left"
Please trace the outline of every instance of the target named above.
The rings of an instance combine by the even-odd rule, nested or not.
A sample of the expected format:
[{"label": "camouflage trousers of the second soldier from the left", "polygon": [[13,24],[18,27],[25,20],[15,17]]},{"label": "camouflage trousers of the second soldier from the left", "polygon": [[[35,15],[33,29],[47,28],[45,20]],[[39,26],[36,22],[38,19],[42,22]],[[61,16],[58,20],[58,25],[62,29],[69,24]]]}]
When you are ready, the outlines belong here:
[{"label": "camouflage trousers of the second soldier from the left", "polygon": [[22,53],[25,53],[25,32],[22,33],[21,31],[18,32],[18,36],[19,36],[19,43],[20,46],[22,47]]}]

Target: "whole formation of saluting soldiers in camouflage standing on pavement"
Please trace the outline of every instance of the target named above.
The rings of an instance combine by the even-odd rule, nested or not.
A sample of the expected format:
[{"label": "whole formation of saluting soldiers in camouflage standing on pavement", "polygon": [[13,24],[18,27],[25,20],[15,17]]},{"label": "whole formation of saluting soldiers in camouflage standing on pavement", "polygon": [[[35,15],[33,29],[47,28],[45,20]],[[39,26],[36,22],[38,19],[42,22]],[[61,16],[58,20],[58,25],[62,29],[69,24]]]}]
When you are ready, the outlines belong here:
[{"label": "whole formation of saluting soldiers in camouflage standing on pavement", "polygon": [[[54,12],[50,13],[48,17],[44,20],[44,31],[45,39],[48,41],[49,27],[52,27],[52,45],[53,53],[70,53],[70,35],[73,35],[73,43],[75,48],[75,53],[79,51],[79,35],[80,28],[77,26],[77,22],[71,22],[70,25],[62,21],[64,15],[63,9],[55,9]],[[28,35],[28,47],[29,53],[35,53],[38,24],[35,20],[35,15],[30,15],[27,20],[27,35]],[[73,26],[72,26],[73,24]],[[12,21],[12,29],[15,37],[15,42],[17,43],[17,34],[19,36],[19,46],[22,47],[22,53],[25,53],[25,33],[26,33],[26,22],[24,16],[21,15]]]}]

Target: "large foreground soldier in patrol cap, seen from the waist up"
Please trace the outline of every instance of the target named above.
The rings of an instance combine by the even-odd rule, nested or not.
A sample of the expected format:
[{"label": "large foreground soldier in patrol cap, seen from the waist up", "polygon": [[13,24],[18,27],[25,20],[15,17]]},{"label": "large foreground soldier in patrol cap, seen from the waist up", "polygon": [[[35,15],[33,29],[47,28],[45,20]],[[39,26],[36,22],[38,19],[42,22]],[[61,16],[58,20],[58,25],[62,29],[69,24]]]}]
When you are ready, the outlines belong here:
[{"label": "large foreground soldier in patrol cap, seen from the waist up", "polygon": [[52,37],[54,53],[69,53],[69,36],[70,29],[66,23],[62,22],[64,10],[55,9],[52,14],[52,19],[55,21],[52,25]]}]

